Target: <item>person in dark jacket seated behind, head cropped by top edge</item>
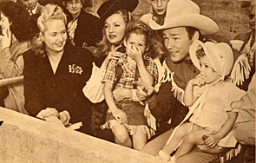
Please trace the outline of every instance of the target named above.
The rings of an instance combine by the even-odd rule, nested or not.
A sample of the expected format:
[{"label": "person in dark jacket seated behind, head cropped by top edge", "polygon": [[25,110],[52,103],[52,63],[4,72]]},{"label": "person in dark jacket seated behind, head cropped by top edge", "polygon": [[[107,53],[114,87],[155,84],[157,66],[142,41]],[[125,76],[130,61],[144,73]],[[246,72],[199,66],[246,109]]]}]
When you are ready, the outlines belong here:
[{"label": "person in dark jacket seated behind, head cropped by top edge", "polygon": [[68,10],[68,35],[70,41],[80,47],[96,46],[102,39],[102,33],[91,26],[98,18],[82,9],[84,0],[63,0]]}]

